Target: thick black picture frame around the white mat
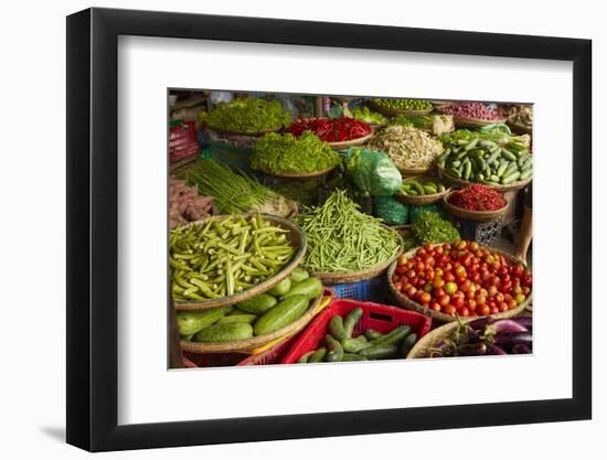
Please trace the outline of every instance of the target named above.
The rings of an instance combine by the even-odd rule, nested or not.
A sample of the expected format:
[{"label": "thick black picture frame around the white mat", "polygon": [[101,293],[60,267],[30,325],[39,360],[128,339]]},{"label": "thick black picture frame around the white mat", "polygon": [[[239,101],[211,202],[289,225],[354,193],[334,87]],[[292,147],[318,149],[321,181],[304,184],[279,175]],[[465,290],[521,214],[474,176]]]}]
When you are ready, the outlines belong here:
[{"label": "thick black picture frame around the white mat", "polygon": [[[117,424],[119,35],[573,62],[573,397]],[[67,18],[67,442],[90,451],[533,424],[592,417],[592,42],[563,38],[88,9]]]}]

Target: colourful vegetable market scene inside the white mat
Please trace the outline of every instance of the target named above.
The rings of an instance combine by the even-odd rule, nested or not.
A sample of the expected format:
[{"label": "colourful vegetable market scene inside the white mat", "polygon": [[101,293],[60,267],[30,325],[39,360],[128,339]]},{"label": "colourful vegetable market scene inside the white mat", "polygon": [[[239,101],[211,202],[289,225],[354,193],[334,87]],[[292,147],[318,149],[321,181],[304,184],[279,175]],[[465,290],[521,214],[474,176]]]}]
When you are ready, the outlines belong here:
[{"label": "colourful vegetable market scene inside the white mat", "polygon": [[171,367],[532,352],[531,105],[192,95],[169,120]]}]

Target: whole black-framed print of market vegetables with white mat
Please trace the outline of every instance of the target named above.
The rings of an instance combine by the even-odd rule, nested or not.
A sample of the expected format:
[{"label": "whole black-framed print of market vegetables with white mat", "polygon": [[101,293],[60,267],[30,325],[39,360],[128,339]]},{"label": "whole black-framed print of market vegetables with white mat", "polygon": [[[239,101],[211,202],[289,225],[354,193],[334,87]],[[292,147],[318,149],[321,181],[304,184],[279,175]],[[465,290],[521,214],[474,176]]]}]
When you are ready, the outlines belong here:
[{"label": "whole black-framed print of market vegetables with white mat", "polygon": [[590,87],[585,40],[70,15],[67,441],[590,418]]}]

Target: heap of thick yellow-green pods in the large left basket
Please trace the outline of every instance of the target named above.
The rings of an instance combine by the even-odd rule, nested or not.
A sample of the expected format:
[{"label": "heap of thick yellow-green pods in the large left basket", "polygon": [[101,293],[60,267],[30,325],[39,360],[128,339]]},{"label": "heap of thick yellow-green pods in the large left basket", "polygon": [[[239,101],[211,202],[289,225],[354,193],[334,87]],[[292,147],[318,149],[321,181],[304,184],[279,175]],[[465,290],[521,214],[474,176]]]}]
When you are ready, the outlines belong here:
[{"label": "heap of thick yellow-green pods in the large left basket", "polygon": [[170,232],[174,300],[209,300],[249,289],[295,254],[285,233],[259,214],[210,218]]}]

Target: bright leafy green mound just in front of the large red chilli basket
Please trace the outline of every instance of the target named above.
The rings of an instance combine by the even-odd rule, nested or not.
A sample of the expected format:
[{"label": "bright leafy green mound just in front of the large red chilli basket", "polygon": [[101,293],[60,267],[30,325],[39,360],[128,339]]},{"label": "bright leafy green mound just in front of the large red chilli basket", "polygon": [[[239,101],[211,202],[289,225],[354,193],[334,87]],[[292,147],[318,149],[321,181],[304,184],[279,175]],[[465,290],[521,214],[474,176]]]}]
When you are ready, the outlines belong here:
[{"label": "bright leafy green mound just in front of the large red chilli basket", "polygon": [[296,138],[270,132],[255,143],[251,167],[274,174],[297,174],[337,167],[341,157],[310,131]]}]

